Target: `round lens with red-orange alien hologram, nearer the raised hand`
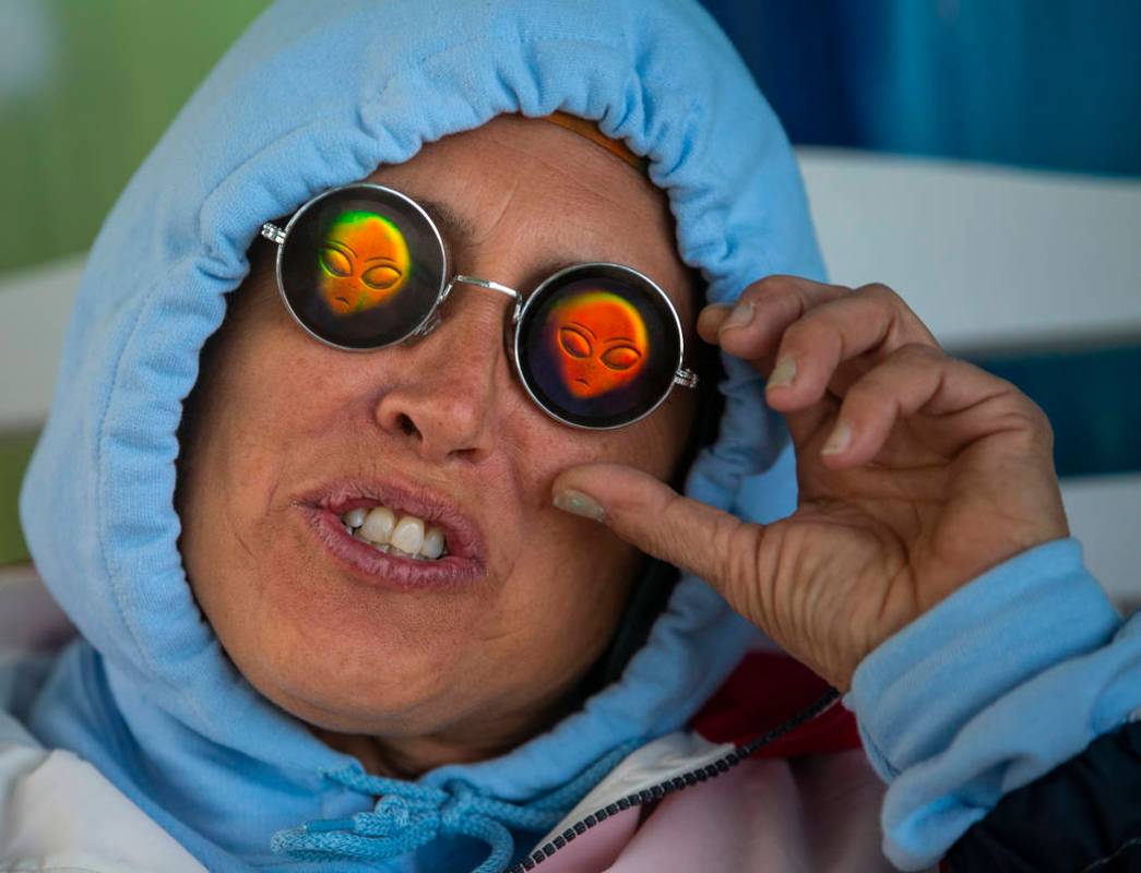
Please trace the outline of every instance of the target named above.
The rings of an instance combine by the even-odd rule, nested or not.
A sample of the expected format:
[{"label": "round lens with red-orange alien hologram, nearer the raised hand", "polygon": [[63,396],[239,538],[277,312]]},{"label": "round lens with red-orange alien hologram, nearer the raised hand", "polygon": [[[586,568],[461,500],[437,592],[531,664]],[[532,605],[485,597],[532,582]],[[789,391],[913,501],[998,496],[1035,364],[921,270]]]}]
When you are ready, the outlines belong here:
[{"label": "round lens with red-orange alien hologram, nearer the raised hand", "polygon": [[532,294],[515,361],[548,414],[578,427],[621,427],[669,394],[681,325],[665,293],[629,267],[577,264]]}]

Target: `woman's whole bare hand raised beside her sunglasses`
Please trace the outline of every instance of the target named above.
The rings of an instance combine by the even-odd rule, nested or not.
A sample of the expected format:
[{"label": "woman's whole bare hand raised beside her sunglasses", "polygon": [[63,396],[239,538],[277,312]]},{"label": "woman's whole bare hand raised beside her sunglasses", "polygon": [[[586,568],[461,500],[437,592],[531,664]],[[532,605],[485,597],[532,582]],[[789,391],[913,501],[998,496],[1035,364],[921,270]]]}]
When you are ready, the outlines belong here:
[{"label": "woman's whole bare hand raised beside her sunglasses", "polygon": [[1045,415],[948,358],[890,288],[771,276],[706,307],[698,333],[769,376],[796,512],[747,524],[606,464],[560,474],[556,504],[706,579],[836,687],[955,589],[1068,536]]}]

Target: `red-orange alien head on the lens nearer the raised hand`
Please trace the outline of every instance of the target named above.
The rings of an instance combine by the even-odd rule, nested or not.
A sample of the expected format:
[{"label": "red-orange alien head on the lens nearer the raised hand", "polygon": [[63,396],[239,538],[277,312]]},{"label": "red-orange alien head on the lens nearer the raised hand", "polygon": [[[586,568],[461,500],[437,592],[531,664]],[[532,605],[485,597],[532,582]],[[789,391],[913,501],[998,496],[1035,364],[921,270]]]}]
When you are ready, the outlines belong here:
[{"label": "red-orange alien head on the lens nearer the raised hand", "polygon": [[617,294],[574,294],[551,309],[547,324],[563,383],[580,400],[628,385],[649,359],[646,323]]}]

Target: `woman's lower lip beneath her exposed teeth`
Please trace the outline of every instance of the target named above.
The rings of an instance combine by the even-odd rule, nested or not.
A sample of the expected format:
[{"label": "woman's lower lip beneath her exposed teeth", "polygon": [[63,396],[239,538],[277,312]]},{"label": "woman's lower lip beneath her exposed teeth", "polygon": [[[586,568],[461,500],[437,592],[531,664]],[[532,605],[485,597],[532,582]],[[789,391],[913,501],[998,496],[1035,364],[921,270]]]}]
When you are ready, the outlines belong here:
[{"label": "woman's lower lip beneath her exposed teeth", "polygon": [[372,585],[407,590],[445,588],[474,582],[484,574],[480,562],[447,555],[435,561],[386,554],[356,539],[345,530],[340,517],[319,506],[304,507],[309,527],[337,563]]}]

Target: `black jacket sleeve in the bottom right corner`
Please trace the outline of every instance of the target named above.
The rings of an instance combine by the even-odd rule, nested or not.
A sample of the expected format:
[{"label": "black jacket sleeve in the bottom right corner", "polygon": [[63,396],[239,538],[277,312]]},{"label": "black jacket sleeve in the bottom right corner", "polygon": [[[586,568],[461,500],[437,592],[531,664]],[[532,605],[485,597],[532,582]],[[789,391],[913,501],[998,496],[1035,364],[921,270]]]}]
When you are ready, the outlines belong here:
[{"label": "black jacket sleeve in the bottom right corner", "polygon": [[942,870],[1141,871],[1141,721],[1005,796],[952,847]]}]

